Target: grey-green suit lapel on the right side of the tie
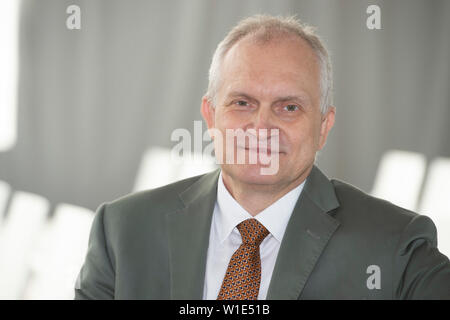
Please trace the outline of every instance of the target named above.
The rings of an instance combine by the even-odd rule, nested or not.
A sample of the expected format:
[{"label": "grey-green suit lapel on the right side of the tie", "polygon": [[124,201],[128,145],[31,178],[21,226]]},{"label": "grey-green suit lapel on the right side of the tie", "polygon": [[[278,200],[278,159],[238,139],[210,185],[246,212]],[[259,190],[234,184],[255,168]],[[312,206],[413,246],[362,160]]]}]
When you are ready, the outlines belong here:
[{"label": "grey-green suit lapel on the right side of the tie", "polygon": [[284,234],[267,299],[298,299],[322,251],[339,226],[334,187],[314,166]]}]

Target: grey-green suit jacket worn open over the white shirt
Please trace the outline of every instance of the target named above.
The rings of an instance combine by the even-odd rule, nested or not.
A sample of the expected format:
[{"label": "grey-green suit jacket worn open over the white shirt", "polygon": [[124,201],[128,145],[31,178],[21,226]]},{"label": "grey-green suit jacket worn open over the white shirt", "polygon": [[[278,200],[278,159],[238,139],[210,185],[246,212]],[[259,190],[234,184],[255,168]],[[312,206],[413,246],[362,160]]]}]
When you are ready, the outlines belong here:
[{"label": "grey-green suit jacket worn open over the white shirt", "polygon": [[[202,299],[219,171],[102,204],[76,299]],[[426,216],[313,167],[267,299],[450,299],[450,262]]]}]

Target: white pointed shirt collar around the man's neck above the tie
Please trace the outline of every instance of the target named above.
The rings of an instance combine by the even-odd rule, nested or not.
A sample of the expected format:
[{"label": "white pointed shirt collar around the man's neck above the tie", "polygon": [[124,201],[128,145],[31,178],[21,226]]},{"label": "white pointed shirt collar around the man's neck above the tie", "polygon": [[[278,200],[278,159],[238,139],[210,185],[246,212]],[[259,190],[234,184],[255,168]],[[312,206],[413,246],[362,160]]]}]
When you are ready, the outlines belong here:
[{"label": "white pointed shirt collar around the man's neck above the tie", "polygon": [[[305,181],[254,217],[261,222],[261,224],[269,230],[271,235],[280,243],[283,239],[286,226],[292,215],[297,199],[303,190]],[[222,179],[222,171],[220,172],[217,184],[217,205],[219,207],[217,230],[219,231],[219,240],[222,243],[239,223],[246,219],[253,218],[252,215],[233,198],[225,187]]]}]

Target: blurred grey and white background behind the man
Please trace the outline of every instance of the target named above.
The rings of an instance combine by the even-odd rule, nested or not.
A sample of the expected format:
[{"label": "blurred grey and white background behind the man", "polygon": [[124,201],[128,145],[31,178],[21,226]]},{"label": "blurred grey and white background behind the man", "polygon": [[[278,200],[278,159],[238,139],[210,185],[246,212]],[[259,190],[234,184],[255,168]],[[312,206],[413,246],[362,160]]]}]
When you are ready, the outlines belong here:
[{"label": "blurred grey and white background behind the man", "polygon": [[5,0],[0,299],[73,298],[101,203],[214,169],[170,162],[171,133],[193,131],[216,45],[255,13],[296,14],[331,52],[337,119],[319,167],[430,216],[450,255],[449,1]]}]

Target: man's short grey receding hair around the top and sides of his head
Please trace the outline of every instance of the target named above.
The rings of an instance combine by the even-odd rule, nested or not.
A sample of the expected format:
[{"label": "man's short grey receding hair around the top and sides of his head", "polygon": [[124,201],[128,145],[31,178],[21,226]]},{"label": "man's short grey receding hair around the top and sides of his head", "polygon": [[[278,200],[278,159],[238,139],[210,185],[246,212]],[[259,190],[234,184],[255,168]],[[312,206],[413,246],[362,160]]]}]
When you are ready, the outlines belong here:
[{"label": "man's short grey receding hair around the top and sides of his head", "polygon": [[255,35],[258,40],[268,42],[275,36],[298,36],[305,40],[316,54],[320,65],[320,109],[325,113],[333,103],[332,69],[328,51],[320,38],[315,34],[315,28],[301,23],[295,18],[274,17],[270,15],[254,15],[241,20],[219,43],[214,52],[209,68],[209,84],[206,97],[215,106],[216,94],[219,88],[220,67],[226,53],[239,40],[248,35]]}]

